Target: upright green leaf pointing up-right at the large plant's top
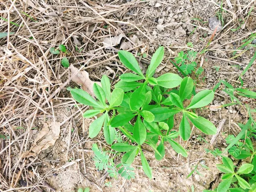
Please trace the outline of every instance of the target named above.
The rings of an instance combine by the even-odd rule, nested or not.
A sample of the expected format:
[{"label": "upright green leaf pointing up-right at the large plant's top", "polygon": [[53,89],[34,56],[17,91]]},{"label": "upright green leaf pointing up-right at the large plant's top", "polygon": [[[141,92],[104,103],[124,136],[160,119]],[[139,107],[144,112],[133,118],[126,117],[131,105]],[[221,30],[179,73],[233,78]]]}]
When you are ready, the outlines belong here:
[{"label": "upright green leaf pointing up-right at the large plant's top", "polygon": [[150,65],[148,66],[147,75],[148,78],[152,77],[155,70],[163,60],[164,47],[159,47],[151,58]]}]

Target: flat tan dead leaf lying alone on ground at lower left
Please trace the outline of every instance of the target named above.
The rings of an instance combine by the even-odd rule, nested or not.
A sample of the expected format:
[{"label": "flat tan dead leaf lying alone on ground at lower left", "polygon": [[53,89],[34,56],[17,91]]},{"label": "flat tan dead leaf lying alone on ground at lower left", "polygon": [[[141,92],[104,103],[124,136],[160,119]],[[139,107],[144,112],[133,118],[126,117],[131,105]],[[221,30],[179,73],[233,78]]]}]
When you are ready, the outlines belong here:
[{"label": "flat tan dead leaf lying alone on ground at lower left", "polygon": [[32,151],[39,154],[42,150],[54,145],[59,138],[60,131],[60,122],[44,123],[44,127],[39,131],[38,137],[35,139]]}]

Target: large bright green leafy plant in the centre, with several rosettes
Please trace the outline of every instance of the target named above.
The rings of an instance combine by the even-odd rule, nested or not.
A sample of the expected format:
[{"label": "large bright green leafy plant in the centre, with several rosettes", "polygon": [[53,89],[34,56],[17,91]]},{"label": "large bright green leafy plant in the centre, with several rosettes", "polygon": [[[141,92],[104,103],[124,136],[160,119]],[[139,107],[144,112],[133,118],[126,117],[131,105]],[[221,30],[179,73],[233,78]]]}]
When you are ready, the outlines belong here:
[{"label": "large bright green leafy plant in the centre, with several rosettes", "polygon": [[[111,148],[120,153],[125,152],[121,161],[129,165],[140,153],[143,170],[151,178],[151,168],[144,156],[142,145],[145,143],[151,146],[157,160],[163,159],[165,155],[165,142],[170,143],[178,154],[187,157],[186,150],[174,139],[179,135],[183,140],[189,139],[191,133],[189,121],[205,134],[216,133],[212,122],[193,112],[196,108],[202,108],[212,102],[214,93],[212,90],[202,90],[193,96],[188,106],[183,106],[183,101],[192,97],[194,89],[190,77],[182,79],[174,73],[153,77],[156,68],[163,60],[163,47],[159,47],[152,56],[145,76],[134,55],[122,50],[118,55],[122,64],[136,74],[122,74],[112,93],[107,76],[101,79],[102,87],[98,84],[93,85],[97,100],[81,89],[72,89],[70,92],[77,102],[94,108],[86,111],[83,114],[84,118],[102,113],[90,125],[89,137],[96,137],[103,126],[105,140],[108,144],[112,144],[115,138],[114,130],[118,128],[130,140],[130,144],[115,143]],[[172,130],[174,115],[177,113],[182,113],[183,117],[179,130],[174,131]],[[160,142],[157,145],[159,138]]]}]

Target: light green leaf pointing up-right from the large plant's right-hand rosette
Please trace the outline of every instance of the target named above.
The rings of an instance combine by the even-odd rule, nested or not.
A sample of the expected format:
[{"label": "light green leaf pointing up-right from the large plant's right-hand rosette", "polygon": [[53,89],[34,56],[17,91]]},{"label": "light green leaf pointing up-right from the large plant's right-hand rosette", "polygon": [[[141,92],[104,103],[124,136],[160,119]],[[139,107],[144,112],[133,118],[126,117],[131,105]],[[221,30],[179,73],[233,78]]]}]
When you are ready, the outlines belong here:
[{"label": "light green leaf pointing up-right from the large plant's right-hand rosette", "polygon": [[204,107],[212,102],[213,98],[214,92],[212,90],[202,90],[193,97],[192,101],[186,109]]}]

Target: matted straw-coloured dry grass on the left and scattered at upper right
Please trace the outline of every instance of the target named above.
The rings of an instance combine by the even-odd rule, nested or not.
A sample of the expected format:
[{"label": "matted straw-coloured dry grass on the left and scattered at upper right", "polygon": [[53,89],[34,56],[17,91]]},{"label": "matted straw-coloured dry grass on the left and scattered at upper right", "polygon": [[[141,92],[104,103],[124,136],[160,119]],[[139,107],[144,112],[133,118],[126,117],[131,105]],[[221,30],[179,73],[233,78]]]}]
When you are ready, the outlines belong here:
[{"label": "matted straw-coloured dry grass on the left and scattered at upper right", "polygon": [[[105,37],[124,34],[125,41],[131,42],[133,46],[129,50],[137,53],[145,49],[148,52],[148,45],[154,44],[148,31],[153,28],[155,21],[147,21],[148,24],[142,26],[145,15],[138,9],[148,3],[150,1],[141,0],[128,3],[113,0],[105,4],[91,0],[0,0],[0,17],[8,21],[0,21],[0,32],[9,33],[7,38],[0,39],[0,134],[10,136],[9,140],[0,139],[0,191],[55,191],[46,182],[47,175],[74,164],[80,166],[79,172],[83,173],[83,179],[102,191],[106,175],[97,180],[94,176],[89,178],[85,174],[87,169],[92,169],[86,163],[90,157],[84,149],[84,143],[90,140],[87,134],[81,131],[87,130],[88,122],[81,118],[81,112],[87,110],[87,106],[73,108],[75,102],[66,91],[66,87],[75,86],[71,81],[70,70],[61,66],[63,55],[52,55],[49,49],[64,44],[68,49],[66,56],[70,63],[79,70],[87,69],[94,80],[100,79],[103,73],[107,74],[114,84],[116,76],[123,73],[125,68],[116,59],[114,49],[104,49],[102,40]],[[172,5],[161,3],[166,7]],[[254,4],[253,0],[247,5],[232,4],[236,11],[230,11],[225,4],[225,9],[228,9],[227,12],[232,17],[224,26],[225,32],[215,35],[216,38],[209,44],[209,51],[219,51],[219,47],[240,42],[252,32],[256,32],[243,32],[239,37],[233,36],[233,39],[218,44],[219,40],[230,33],[229,29],[234,28],[237,17],[245,18]],[[173,3],[172,6],[180,7],[178,3]],[[251,15],[255,16],[253,14]],[[141,21],[138,25],[130,21],[131,17],[137,16]],[[245,22],[248,22],[248,18]],[[169,29],[179,23],[183,22],[169,23],[165,27]],[[200,22],[193,25],[202,32],[212,32]],[[131,41],[130,34],[136,32],[143,42]],[[76,46],[77,40],[81,43],[79,48]],[[198,43],[197,49],[203,50],[208,41],[209,38],[206,38]],[[168,67],[168,58],[171,58],[174,52],[188,48],[182,46],[183,44],[176,47],[166,45],[166,63],[162,64],[158,71]],[[232,51],[234,50],[228,50]],[[240,64],[235,60],[230,61],[228,55],[223,58],[209,57]],[[149,62],[144,58],[142,61],[145,64]],[[35,139],[35,127],[40,130],[41,122],[46,121],[60,122],[60,137],[62,140],[67,138],[67,148],[64,154],[65,162],[42,175],[38,172],[38,163],[42,163],[40,158],[36,154],[28,153],[31,152]],[[77,122],[81,123],[77,125]],[[70,158],[79,161],[69,163]]]}]

